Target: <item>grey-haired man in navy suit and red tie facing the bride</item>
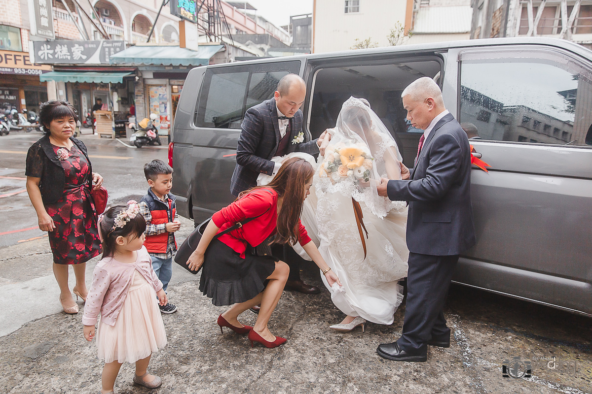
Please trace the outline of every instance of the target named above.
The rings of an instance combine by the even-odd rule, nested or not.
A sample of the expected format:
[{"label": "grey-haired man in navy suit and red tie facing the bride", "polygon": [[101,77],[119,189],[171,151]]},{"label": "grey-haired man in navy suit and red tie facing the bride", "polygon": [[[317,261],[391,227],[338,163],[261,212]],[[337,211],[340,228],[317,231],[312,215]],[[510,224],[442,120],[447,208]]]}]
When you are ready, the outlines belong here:
[{"label": "grey-haired man in navy suit and red tie facing the bride", "polygon": [[460,253],[475,245],[469,141],[444,106],[439,86],[423,77],[401,95],[411,125],[424,130],[413,171],[403,180],[382,179],[378,194],[408,201],[409,248],[403,334],[377,352],[385,359],[427,360],[427,345],[449,347],[442,312]]}]

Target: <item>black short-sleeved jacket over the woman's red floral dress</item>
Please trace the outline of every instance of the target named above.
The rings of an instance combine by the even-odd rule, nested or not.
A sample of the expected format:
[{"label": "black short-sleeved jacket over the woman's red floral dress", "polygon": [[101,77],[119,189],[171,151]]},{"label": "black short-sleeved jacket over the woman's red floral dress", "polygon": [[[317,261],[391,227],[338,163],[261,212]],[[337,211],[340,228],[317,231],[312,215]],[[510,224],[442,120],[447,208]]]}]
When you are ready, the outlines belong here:
[{"label": "black short-sleeved jacket over the woman's red floral dress", "polygon": [[[79,139],[73,137],[70,137],[70,139],[86,156],[89,172],[92,174],[91,160],[88,158],[86,145]],[[41,178],[39,188],[43,204],[52,204],[62,198],[66,184],[66,174],[60,159],[57,158],[56,152],[53,151],[49,136],[41,137],[29,148],[25,175],[27,177]]]}]

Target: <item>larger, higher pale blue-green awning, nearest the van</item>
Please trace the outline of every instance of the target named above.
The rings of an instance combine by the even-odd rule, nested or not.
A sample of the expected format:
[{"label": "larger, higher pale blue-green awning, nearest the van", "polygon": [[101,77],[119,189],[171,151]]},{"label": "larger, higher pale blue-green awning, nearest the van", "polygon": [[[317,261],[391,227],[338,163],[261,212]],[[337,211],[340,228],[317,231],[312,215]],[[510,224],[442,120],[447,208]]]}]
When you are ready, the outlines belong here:
[{"label": "larger, higher pale blue-green awning, nearest the van", "polygon": [[111,64],[155,65],[155,66],[204,66],[224,45],[200,45],[197,51],[175,45],[134,45],[111,55]]}]

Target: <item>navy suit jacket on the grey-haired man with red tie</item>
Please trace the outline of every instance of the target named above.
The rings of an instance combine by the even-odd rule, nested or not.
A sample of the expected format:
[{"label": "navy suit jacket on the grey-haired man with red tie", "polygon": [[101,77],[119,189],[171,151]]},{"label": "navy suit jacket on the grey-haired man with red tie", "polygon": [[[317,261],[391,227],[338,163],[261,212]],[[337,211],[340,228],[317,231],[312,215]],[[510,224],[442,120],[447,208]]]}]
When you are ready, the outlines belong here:
[{"label": "navy suit jacket on the grey-haired man with red tie", "polygon": [[388,182],[388,198],[408,201],[407,246],[424,255],[459,255],[475,245],[471,151],[451,114],[436,123],[410,180]]}]

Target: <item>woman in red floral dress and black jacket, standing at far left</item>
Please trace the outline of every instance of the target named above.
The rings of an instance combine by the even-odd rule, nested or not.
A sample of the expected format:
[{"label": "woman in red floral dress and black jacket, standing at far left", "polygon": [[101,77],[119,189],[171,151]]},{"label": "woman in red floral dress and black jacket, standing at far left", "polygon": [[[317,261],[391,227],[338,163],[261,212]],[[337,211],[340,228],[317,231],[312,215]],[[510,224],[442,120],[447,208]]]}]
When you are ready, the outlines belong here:
[{"label": "woman in red floral dress and black jacket, standing at far left", "polygon": [[68,287],[68,265],[76,276],[72,291],[85,301],[86,262],[101,253],[91,187],[92,183],[101,187],[103,180],[92,172],[86,146],[72,137],[78,115],[69,102],[43,103],[39,120],[45,135],[27,153],[27,192],[39,228],[48,232],[60,303],[66,313],[77,314]]}]

